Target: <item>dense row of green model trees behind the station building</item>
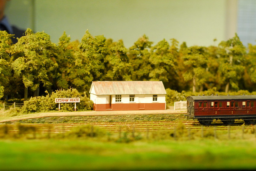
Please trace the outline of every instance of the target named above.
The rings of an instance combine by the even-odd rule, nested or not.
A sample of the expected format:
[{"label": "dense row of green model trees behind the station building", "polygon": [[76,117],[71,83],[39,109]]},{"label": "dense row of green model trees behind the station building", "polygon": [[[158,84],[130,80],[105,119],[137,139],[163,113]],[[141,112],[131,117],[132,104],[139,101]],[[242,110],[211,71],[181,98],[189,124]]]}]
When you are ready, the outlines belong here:
[{"label": "dense row of green model trees behind the station building", "polygon": [[[64,32],[58,45],[48,34],[33,33],[31,29],[16,44],[12,44],[11,37],[0,31],[0,98],[6,100],[21,99],[27,92],[24,88],[33,91],[33,96],[39,95],[39,88],[51,92],[74,87],[82,94],[89,91],[92,81],[104,80],[157,80],[163,81],[166,89],[205,94],[209,92],[204,90],[212,91],[214,87],[214,93],[256,90],[256,46],[249,44],[246,49],[237,34],[209,47],[187,47],[186,42],[179,47],[175,39],[153,45],[143,35],[128,49],[122,40],[93,37],[89,30],[81,42],[70,42]],[[177,92],[170,93],[173,95],[168,95],[167,103],[177,96]],[[63,109],[69,108],[63,104]]]}]

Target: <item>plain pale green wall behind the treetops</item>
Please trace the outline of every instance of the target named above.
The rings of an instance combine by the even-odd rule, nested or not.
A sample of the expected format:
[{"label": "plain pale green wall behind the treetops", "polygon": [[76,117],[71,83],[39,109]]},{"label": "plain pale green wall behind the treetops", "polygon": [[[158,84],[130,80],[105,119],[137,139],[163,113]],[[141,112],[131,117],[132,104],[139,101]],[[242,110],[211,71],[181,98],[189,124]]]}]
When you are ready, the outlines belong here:
[{"label": "plain pale green wall behind the treetops", "polygon": [[237,4],[237,0],[11,0],[6,15],[20,28],[44,31],[54,43],[64,31],[71,41],[80,41],[89,29],[93,36],[123,39],[126,48],[143,34],[154,44],[175,38],[188,46],[209,46],[235,35]]}]

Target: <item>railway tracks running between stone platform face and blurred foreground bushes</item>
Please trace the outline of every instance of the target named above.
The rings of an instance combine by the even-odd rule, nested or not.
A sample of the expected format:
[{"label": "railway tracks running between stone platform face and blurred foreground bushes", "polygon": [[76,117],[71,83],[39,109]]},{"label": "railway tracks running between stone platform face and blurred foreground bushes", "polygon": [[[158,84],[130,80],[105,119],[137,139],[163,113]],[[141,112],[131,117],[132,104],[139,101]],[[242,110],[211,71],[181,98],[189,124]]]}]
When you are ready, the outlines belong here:
[{"label": "railway tracks running between stone platform face and blurred foreground bushes", "polygon": [[36,131],[40,134],[63,134],[67,131],[72,130],[73,127],[79,125],[92,125],[93,127],[99,127],[107,132],[152,132],[157,130],[174,130],[178,125],[182,123],[186,129],[200,130],[202,127],[205,130],[237,130],[251,128],[252,125],[243,125],[242,122],[237,121],[232,126],[227,126],[220,121],[214,121],[211,126],[202,126],[197,121],[193,120],[182,120],[182,121],[147,121],[147,122],[90,122],[90,123],[46,123],[46,124],[6,124],[8,126],[8,132],[13,134],[19,133],[19,126],[34,128],[31,130]]}]

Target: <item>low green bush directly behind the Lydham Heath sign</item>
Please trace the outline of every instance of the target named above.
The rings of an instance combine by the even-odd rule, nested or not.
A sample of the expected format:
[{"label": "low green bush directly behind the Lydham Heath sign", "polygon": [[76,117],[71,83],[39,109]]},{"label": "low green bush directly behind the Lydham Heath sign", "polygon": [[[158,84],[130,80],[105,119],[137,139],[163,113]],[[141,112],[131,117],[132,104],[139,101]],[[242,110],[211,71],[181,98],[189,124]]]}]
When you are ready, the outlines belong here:
[{"label": "low green bush directly behind the Lydham Heath sign", "polygon": [[[30,100],[24,101],[24,106],[21,109],[23,113],[41,112],[41,111],[52,111],[59,109],[59,103],[55,103],[55,98],[80,98],[80,103],[77,103],[77,110],[91,110],[93,108],[93,102],[90,100],[86,93],[84,96],[75,89],[70,88],[68,90],[56,90],[50,95],[46,91],[47,95],[31,97]],[[60,103],[61,111],[74,111],[74,103]]]}]

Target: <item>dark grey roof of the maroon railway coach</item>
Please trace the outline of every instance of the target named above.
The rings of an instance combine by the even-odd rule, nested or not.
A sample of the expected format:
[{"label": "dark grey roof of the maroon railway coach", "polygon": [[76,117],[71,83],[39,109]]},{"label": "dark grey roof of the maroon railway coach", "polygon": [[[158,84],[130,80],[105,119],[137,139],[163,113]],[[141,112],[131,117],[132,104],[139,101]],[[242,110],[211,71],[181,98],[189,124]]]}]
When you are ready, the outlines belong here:
[{"label": "dark grey roof of the maroon railway coach", "polygon": [[255,99],[256,95],[228,95],[228,96],[188,96],[188,98],[192,98],[193,100],[244,100],[244,99]]}]

